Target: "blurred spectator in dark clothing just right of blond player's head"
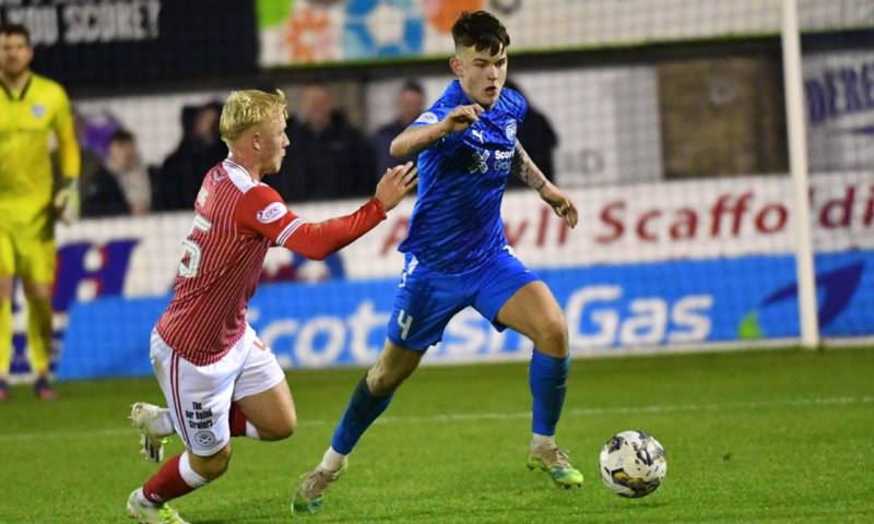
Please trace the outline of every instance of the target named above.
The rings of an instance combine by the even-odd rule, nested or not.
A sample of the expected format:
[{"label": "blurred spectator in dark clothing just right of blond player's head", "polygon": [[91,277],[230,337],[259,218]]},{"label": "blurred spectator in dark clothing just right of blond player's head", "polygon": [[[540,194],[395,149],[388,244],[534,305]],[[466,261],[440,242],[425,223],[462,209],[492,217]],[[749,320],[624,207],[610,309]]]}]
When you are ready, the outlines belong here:
[{"label": "blurred spectator in dark clothing just right of blond player's head", "polygon": [[271,180],[288,201],[365,195],[373,187],[374,155],[365,135],[334,108],[322,83],[304,86],[300,118],[288,120],[290,159]]}]

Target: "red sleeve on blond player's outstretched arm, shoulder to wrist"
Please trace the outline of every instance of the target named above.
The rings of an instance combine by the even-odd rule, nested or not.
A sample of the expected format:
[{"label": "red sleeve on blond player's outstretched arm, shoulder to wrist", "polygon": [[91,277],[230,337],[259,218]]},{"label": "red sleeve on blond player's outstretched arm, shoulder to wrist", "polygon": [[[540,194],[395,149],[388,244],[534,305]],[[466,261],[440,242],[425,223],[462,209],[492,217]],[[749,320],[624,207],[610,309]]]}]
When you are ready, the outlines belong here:
[{"label": "red sleeve on blond player's outstretched arm, shoulder to wrist", "polygon": [[373,198],[351,215],[312,224],[288,211],[276,191],[259,186],[240,199],[235,214],[238,224],[258,231],[276,246],[308,259],[322,260],[376,227],[386,218],[386,209]]}]

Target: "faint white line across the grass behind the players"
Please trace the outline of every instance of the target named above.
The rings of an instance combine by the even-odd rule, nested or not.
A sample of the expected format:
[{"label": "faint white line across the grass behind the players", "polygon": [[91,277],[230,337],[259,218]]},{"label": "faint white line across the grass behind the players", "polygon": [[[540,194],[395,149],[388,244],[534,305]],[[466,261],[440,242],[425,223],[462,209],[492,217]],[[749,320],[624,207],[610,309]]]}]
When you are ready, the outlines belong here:
[{"label": "faint white line across the grass behind the players", "polygon": [[[754,401],[754,402],[727,402],[722,404],[662,404],[649,406],[625,406],[625,407],[578,407],[565,409],[564,416],[590,417],[615,414],[633,413],[677,413],[677,412],[719,412],[725,409],[763,409],[769,407],[803,407],[803,406],[832,406],[848,404],[871,404],[874,396],[837,396],[827,398],[795,398],[783,401]],[[428,424],[428,422],[454,422],[471,420],[516,420],[531,418],[531,412],[518,413],[450,413],[446,415],[433,415],[428,417],[381,417],[375,424]],[[119,417],[119,420],[123,417]],[[324,426],[334,425],[336,420],[310,419],[302,420],[300,426]],[[29,432],[29,433],[8,433],[0,434],[0,442],[31,439],[81,439],[94,437],[115,437],[129,436],[138,437],[135,428],[123,429],[101,429],[95,431],[52,431],[52,432]]]}]

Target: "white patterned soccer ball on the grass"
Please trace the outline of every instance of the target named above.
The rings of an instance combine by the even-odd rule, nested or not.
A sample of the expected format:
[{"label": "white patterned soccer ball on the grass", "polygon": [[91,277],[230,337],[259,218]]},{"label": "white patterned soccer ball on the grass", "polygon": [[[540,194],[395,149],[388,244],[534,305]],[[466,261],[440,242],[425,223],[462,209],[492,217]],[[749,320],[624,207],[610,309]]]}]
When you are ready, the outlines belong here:
[{"label": "white patterned soccer ball on the grass", "polygon": [[646,497],[668,473],[664,448],[642,431],[616,433],[601,449],[599,462],[604,484],[622,497]]}]

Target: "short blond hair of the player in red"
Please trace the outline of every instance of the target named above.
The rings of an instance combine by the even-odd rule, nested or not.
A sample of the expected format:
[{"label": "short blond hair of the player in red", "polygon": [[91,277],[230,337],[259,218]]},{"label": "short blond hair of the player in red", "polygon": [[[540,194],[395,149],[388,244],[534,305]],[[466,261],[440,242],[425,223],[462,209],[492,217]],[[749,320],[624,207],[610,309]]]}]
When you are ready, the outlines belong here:
[{"label": "short blond hair of the player in red", "polygon": [[285,93],[264,93],[258,90],[233,91],[222,108],[218,131],[229,146],[247,129],[261,122],[282,117],[288,118]]}]

